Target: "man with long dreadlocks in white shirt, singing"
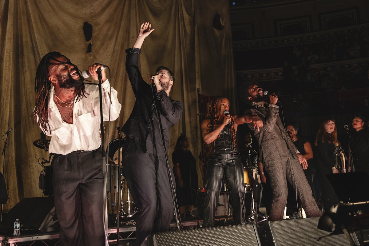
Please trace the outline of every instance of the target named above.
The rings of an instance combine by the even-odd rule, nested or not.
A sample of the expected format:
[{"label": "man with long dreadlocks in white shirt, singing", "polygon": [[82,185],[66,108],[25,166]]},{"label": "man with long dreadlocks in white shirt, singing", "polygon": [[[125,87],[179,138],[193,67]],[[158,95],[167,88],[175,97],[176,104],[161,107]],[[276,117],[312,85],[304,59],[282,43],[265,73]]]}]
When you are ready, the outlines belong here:
[{"label": "man with long dreadlocks in white shirt, singing", "polygon": [[[89,66],[94,80],[100,66]],[[121,105],[104,71],[103,119],[109,121],[118,118]],[[60,245],[104,245],[99,87],[83,83],[77,66],[50,52],[38,65],[35,91],[32,116],[51,136],[49,152],[55,154],[52,182]]]}]

